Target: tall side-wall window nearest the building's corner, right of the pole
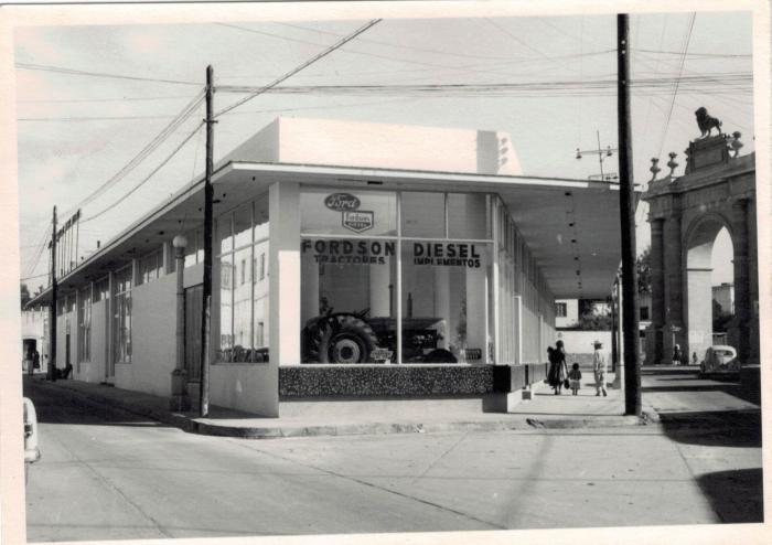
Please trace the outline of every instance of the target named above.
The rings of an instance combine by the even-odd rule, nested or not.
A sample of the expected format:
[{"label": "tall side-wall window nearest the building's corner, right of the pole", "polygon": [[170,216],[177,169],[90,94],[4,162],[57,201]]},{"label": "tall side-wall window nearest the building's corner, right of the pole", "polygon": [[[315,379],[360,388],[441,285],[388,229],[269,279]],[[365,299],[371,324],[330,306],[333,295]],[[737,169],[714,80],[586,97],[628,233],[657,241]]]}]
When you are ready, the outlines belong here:
[{"label": "tall side-wall window nearest the building's corner, right of the pole", "polygon": [[216,346],[216,361],[266,362],[267,196],[219,216],[215,248],[219,250],[219,342]]}]

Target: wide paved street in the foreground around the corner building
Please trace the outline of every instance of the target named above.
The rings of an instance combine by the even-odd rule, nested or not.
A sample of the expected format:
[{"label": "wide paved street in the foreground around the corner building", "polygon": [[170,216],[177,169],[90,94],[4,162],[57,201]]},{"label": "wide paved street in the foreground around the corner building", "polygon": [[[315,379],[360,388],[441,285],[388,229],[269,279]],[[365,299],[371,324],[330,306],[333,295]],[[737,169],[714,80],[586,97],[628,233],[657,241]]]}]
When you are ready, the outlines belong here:
[{"label": "wide paved street in the foreground around the corner building", "polygon": [[761,517],[758,412],[731,384],[683,373],[644,377],[660,426],[276,440],[186,434],[26,387],[43,452],[30,541]]}]

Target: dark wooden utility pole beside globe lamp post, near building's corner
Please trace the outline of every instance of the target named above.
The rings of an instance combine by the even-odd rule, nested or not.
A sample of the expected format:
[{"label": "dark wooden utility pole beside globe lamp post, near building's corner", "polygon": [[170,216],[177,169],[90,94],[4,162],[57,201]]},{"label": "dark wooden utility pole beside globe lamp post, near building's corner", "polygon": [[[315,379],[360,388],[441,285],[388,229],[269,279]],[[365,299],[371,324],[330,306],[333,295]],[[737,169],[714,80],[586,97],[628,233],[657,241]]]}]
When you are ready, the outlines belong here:
[{"label": "dark wooden utility pole beside globe lamp post, near building's corner", "polygon": [[210,319],[212,316],[212,209],[214,189],[212,188],[212,171],[214,135],[212,95],[214,93],[214,71],[212,65],[206,67],[206,178],[204,180],[204,284],[202,286],[204,304],[201,316],[201,397],[200,415],[210,414]]}]

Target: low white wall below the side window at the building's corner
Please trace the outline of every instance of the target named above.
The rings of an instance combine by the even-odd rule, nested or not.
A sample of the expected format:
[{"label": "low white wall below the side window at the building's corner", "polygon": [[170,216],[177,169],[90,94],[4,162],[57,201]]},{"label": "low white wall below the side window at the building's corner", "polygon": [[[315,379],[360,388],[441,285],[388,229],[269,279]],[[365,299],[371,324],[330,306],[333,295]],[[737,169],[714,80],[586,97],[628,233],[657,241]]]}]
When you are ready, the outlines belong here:
[{"label": "low white wall below the side window at the building's corner", "polygon": [[270,363],[218,363],[210,366],[210,404],[261,416],[279,416],[279,378]]}]

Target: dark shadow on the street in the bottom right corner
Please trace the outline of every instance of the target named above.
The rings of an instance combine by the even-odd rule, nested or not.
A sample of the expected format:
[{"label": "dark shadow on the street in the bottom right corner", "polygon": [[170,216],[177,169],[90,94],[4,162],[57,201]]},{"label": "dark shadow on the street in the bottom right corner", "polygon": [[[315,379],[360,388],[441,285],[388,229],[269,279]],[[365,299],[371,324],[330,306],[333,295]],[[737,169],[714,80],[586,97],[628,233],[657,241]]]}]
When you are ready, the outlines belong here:
[{"label": "dark shadow on the street in the bottom right corner", "polygon": [[714,511],[725,523],[764,521],[761,469],[718,471],[697,478]]}]

